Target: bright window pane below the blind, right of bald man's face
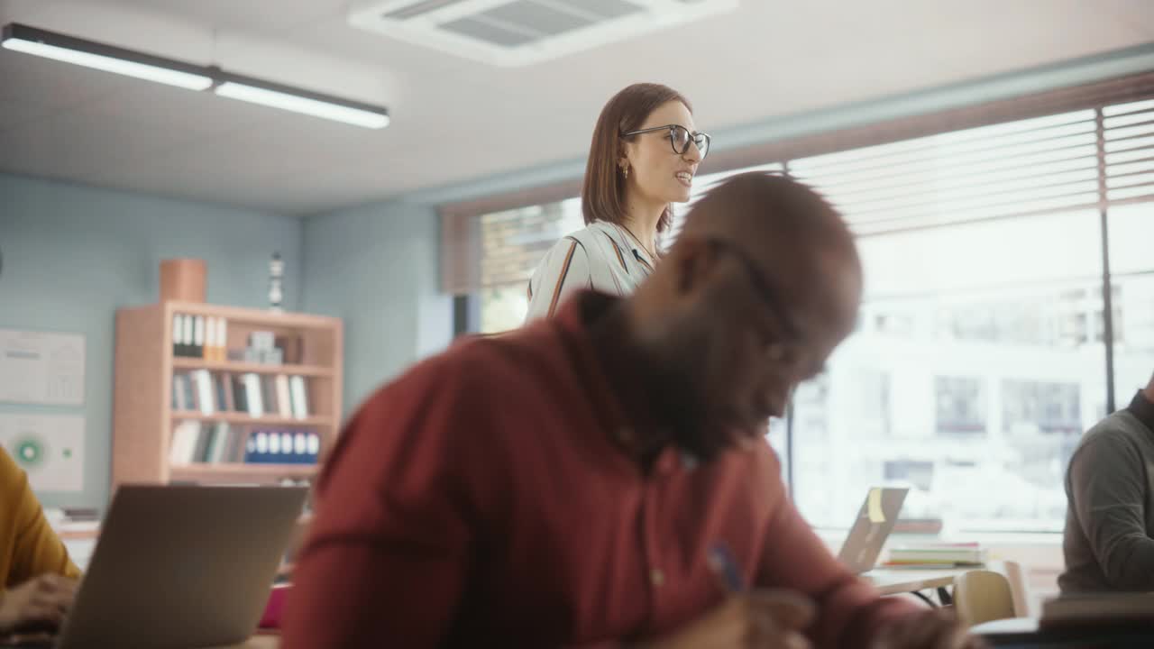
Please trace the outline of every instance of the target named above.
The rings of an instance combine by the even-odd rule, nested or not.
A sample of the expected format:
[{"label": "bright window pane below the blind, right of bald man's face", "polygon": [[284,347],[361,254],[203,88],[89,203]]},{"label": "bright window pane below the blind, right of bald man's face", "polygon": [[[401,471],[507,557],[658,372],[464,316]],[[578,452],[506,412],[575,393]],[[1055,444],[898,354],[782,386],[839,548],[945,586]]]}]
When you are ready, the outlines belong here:
[{"label": "bright window pane below the blind, right of bald man's face", "polygon": [[[1094,422],[1095,398],[1104,410],[1104,345],[1065,333],[1074,315],[1101,309],[1099,226],[1095,211],[1078,210],[861,237],[862,324],[830,359],[825,398],[796,404],[803,514],[844,527],[867,487],[916,465],[908,516],[1061,529],[1067,449],[1046,438],[1056,455],[1033,453],[1033,438],[1004,418],[1049,404],[1019,403],[1041,389],[1028,382],[1065,386],[1061,400],[1079,401],[1063,401],[1062,417],[1079,417],[1079,433]],[[889,434],[863,425],[882,408],[857,396],[865,371],[889,376]],[[803,412],[812,409],[820,412]]]}]

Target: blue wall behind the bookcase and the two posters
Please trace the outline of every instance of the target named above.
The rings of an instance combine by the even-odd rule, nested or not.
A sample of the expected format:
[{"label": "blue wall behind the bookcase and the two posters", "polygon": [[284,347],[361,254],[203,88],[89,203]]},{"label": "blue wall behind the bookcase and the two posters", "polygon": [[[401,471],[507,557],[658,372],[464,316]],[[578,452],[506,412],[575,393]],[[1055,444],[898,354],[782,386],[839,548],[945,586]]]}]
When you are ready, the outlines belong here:
[{"label": "blue wall behind the bookcase and the two posters", "polygon": [[208,261],[208,301],[268,305],[268,260],[285,260],[285,307],[300,305],[300,219],[0,174],[0,328],[85,337],[84,405],[0,403],[0,412],[84,416],[84,491],[38,493],[46,506],[108,498],[115,309],[157,300],[159,262]]}]

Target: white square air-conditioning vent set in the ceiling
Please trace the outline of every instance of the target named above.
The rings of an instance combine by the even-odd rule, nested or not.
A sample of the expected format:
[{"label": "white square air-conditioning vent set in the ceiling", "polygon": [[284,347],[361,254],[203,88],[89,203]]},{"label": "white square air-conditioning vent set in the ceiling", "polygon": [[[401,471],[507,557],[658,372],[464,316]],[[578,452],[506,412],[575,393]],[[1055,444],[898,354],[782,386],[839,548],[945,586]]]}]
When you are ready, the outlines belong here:
[{"label": "white square air-conditioning vent set in the ceiling", "polygon": [[739,0],[376,0],[349,15],[353,27],[496,66],[524,66],[682,27]]}]

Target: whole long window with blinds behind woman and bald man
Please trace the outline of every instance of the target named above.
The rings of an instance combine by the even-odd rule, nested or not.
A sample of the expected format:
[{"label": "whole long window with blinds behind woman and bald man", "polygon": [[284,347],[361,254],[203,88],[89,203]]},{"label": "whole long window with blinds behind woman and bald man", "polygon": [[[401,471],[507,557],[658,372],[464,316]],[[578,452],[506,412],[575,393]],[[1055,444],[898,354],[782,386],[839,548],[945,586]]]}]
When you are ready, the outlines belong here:
[{"label": "whole long window with blinds behind woman and bald man", "polygon": [[[697,197],[733,173],[788,173],[859,236],[856,330],[770,427],[811,523],[844,528],[869,486],[901,482],[908,517],[1061,531],[1082,432],[1154,373],[1154,99],[1082,104],[695,182]],[[504,330],[579,204],[480,223],[484,263],[503,264],[482,273],[482,329]]]}]

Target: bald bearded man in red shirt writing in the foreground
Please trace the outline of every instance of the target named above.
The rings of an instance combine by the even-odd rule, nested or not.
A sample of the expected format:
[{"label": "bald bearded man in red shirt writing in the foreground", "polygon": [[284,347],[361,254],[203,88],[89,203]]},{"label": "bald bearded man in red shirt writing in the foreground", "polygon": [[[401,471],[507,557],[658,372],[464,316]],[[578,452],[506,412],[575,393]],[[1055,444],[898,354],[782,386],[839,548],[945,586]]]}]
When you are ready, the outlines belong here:
[{"label": "bald bearded man in red shirt writing in the foreground", "polygon": [[977,646],[841,566],[764,438],[861,291],[825,201],[742,174],[631,297],[411,370],[323,471],[284,648]]}]

